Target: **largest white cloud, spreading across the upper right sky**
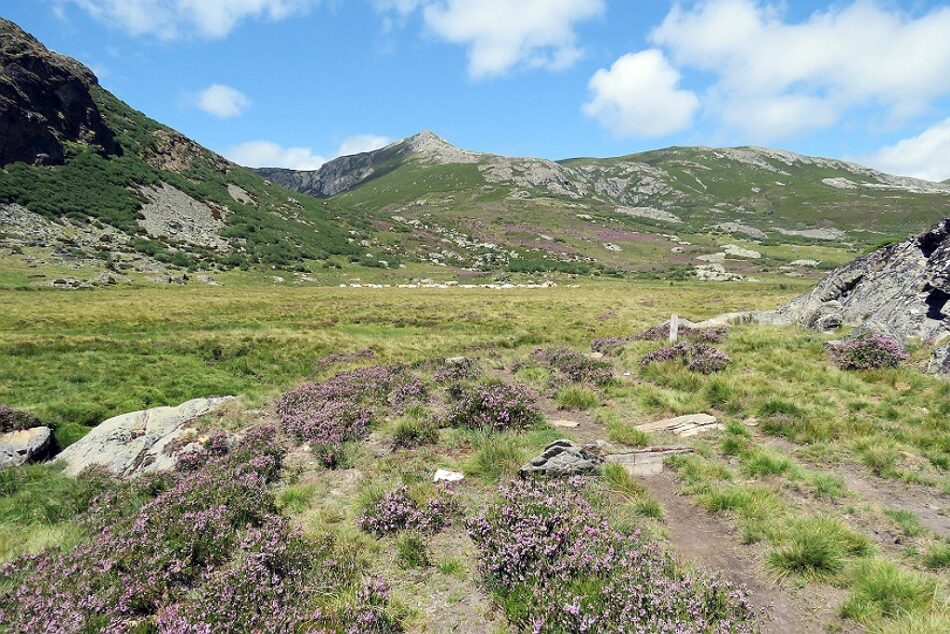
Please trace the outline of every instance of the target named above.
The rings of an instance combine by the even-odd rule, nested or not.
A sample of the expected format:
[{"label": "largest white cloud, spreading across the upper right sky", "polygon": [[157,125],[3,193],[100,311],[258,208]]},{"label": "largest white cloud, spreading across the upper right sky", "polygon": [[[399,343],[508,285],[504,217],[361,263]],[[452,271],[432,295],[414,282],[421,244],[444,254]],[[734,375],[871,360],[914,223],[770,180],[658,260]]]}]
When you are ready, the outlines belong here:
[{"label": "largest white cloud, spreading across the upper right sky", "polygon": [[650,39],[679,67],[709,73],[710,113],[758,138],[823,128],[867,106],[902,122],[950,93],[950,6],[914,17],[858,0],[799,22],[782,6],[677,5]]}]

